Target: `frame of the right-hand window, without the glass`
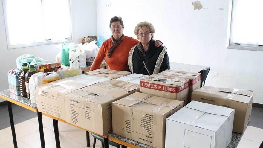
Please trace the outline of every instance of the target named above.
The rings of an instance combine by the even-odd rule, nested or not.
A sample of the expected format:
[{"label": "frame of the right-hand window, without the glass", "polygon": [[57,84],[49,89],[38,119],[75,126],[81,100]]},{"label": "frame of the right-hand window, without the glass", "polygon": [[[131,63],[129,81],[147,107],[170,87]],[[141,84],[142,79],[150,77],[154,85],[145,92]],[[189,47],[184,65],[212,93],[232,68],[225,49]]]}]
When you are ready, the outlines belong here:
[{"label": "frame of the right-hand window, without the glass", "polygon": [[[239,50],[252,50],[252,51],[263,51],[262,45],[256,44],[235,44],[231,42],[231,32],[232,32],[232,20],[233,20],[233,4],[235,0],[229,1],[229,13],[228,13],[228,27],[227,27],[227,49],[239,49]],[[230,9],[231,8],[231,9]]]}]

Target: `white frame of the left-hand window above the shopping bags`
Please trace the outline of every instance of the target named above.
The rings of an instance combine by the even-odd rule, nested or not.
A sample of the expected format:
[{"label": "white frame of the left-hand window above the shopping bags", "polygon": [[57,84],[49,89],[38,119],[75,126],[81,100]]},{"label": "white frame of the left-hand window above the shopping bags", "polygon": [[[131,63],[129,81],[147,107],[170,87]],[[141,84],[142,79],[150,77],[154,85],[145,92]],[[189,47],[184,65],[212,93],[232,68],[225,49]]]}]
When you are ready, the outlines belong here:
[{"label": "white frame of the left-hand window above the shopping bags", "polygon": [[[68,39],[63,39],[63,40],[46,40],[43,42],[35,42],[35,43],[28,43],[28,44],[19,44],[19,45],[10,45],[10,38],[9,38],[9,29],[8,29],[8,24],[7,24],[7,11],[6,11],[6,1],[7,0],[2,0],[3,4],[3,11],[4,11],[4,25],[5,25],[5,31],[6,31],[6,40],[7,40],[7,49],[16,49],[16,48],[24,48],[24,47],[33,47],[33,46],[39,46],[39,45],[51,45],[51,44],[58,44],[62,42],[74,42],[73,38],[73,30],[72,30],[72,14],[71,14],[71,0],[68,0],[68,5],[69,5],[69,17],[70,17],[70,37]],[[43,9],[43,1],[44,0],[39,0],[41,1],[42,9]]]}]

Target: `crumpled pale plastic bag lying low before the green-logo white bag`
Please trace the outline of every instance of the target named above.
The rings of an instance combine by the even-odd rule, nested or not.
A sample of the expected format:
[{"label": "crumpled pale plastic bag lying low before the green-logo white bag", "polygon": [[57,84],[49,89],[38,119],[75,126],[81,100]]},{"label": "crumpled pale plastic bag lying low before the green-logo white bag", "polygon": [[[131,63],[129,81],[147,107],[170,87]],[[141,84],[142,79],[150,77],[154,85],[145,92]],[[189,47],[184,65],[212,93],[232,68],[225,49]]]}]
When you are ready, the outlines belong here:
[{"label": "crumpled pale plastic bag lying low before the green-logo white bag", "polygon": [[59,68],[57,73],[59,74],[60,79],[65,79],[68,77],[73,77],[82,74],[82,71],[78,67],[71,67],[71,68]]}]

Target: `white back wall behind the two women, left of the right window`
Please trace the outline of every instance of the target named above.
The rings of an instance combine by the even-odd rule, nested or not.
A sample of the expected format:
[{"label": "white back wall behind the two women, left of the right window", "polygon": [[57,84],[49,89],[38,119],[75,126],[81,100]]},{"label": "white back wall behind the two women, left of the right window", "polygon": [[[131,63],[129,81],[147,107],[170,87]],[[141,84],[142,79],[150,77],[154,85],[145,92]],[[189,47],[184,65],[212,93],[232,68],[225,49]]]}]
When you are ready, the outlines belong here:
[{"label": "white back wall behind the two women, left of the right window", "polygon": [[151,22],[170,62],[210,66],[206,85],[253,90],[253,102],[263,104],[263,52],[226,49],[229,0],[200,0],[200,10],[194,10],[193,1],[97,1],[97,35],[111,34],[113,16],[123,18],[124,35],[134,38],[137,23]]}]

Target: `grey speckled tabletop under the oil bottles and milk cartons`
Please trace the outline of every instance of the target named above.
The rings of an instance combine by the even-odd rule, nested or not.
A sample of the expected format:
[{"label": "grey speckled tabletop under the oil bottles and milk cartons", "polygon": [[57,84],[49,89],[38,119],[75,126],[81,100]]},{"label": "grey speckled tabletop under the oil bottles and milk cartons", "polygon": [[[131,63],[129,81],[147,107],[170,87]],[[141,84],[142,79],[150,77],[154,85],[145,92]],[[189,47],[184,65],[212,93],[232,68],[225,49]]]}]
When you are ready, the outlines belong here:
[{"label": "grey speckled tabletop under the oil bottles and milk cartons", "polygon": [[26,106],[32,107],[34,109],[37,109],[36,104],[32,104],[29,99],[24,98],[22,96],[17,96],[15,94],[12,94],[11,92],[9,92],[9,89],[0,91],[0,96],[7,97],[7,98],[9,98],[11,100],[14,100],[14,101],[18,102],[18,103],[22,103],[22,104],[24,104]]}]

